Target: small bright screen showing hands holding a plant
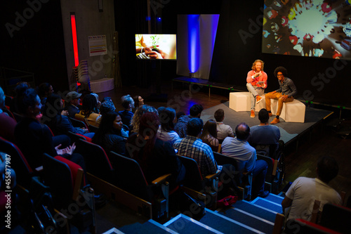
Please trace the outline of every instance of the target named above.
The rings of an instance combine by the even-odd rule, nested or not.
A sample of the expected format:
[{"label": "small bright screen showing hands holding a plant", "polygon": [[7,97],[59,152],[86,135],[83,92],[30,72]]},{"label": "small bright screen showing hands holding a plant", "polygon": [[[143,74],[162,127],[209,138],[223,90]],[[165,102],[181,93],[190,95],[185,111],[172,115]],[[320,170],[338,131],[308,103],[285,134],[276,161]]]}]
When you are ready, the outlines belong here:
[{"label": "small bright screen showing hands holding a plant", "polygon": [[176,34],[135,34],[138,59],[177,59]]}]

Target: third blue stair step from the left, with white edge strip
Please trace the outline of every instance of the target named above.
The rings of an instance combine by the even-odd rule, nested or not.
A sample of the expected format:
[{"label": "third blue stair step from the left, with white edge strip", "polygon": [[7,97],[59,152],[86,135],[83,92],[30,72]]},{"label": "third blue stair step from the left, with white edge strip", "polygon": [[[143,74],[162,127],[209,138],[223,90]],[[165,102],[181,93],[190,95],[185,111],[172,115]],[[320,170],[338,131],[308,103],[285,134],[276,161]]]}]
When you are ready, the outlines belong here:
[{"label": "third blue stair step from the left, with white edge strip", "polygon": [[223,233],[232,233],[233,230],[237,233],[272,233],[274,226],[270,221],[239,209],[229,209],[225,214],[206,210],[200,222]]}]

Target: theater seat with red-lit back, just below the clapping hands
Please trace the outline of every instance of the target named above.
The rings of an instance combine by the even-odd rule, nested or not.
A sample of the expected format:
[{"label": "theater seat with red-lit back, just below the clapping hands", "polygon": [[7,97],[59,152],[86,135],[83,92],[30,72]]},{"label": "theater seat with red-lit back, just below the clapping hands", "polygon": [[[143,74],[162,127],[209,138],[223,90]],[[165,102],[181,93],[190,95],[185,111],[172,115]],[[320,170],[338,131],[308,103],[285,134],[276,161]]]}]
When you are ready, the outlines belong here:
[{"label": "theater seat with red-lit back, just below the clapping hands", "polygon": [[84,187],[84,171],[61,156],[43,155],[43,181],[50,188],[55,209],[73,209],[69,223],[80,231],[95,230],[94,191]]}]

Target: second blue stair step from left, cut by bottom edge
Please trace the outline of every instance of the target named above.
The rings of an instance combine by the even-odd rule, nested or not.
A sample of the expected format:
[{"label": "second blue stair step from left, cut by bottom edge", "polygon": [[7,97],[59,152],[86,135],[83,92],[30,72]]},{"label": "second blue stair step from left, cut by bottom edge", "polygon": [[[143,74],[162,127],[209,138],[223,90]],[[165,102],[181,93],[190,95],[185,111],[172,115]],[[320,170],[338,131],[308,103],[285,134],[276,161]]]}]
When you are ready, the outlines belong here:
[{"label": "second blue stair step from left, cut by bottom edge", "polygon": [[191,219],[190,217],[185,216],[184,214],[178,214],[178,216],[174,217],[167,223],[164,223],[164,226],[176,231],[177,233],[221,233],[220,231],[206,226],[205,224],[200,223],[199,221]]}]

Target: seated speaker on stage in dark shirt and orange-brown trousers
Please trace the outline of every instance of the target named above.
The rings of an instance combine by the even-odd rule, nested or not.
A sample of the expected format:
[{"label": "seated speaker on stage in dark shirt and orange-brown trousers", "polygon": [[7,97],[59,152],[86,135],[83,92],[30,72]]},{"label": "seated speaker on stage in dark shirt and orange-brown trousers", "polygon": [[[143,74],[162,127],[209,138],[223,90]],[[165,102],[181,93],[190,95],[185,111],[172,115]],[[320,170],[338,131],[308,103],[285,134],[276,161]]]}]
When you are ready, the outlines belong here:
[{"label": "seated speaker on stage in dark shirt and orange-brown trousers", "polygon": [[267,109],[270,116],[272,116],[272,112],[270,111],[270,100],[276,99],[278,100],[278,109],[277,115],[273,119],[270,124],[277,124],[280,122],[279,115],[282,113],[283,103],[289,103],[293,101],[293,96],[296,95],[297,90],[293,81],[286,77],[288,72],[284,67],[277,67],[274,70],[274,76],[279,80],[279,89],[267,93],[265,95],[265,108]]}]

